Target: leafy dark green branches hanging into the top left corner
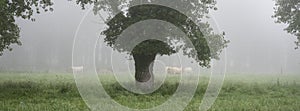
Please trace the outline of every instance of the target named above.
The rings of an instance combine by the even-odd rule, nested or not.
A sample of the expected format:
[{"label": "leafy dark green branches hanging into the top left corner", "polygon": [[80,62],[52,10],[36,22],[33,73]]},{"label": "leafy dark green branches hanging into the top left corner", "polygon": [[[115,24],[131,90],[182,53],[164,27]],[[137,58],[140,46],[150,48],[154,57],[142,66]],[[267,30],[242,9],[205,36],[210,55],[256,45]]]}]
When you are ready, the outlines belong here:
[{"label": "leafy dark green branches hanging into the top left corner", "polygon": [[0,1],[0,56],[5,50],[12,50],[11,45],[21,45],[20,28],[16,18],[35,21],[33,14],[52,11],[51,0],[1,0]]}]

